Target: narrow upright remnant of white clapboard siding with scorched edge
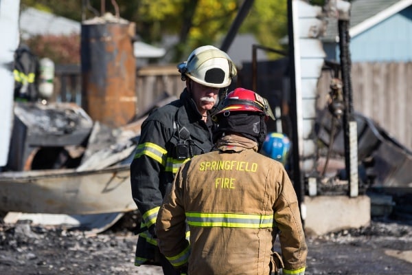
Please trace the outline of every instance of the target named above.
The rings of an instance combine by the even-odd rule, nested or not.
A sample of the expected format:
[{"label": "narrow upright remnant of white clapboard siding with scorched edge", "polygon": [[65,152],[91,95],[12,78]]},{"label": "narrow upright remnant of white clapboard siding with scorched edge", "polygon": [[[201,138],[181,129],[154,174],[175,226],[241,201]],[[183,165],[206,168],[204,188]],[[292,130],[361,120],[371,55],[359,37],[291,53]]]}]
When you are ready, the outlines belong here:
[{"label": "narrow upright remnant of white clapboard siding with scorched edge", "polygon": [[316,142],[310,136],[316,116],[317,81],[326,56],[319,36],[325,29],[321,7],[293,0],[297,133],[303,173],[315,168]]}]

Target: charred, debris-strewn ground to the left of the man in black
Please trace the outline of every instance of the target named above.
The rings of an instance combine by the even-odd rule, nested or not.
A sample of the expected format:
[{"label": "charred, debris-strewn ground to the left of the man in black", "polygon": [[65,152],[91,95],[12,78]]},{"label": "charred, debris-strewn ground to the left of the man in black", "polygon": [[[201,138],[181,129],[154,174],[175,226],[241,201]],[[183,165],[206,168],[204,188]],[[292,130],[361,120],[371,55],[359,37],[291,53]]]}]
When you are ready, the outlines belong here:
[{"label": "charred, debris-strewn ground to the left of the man in black", "polygon": [[162,274],[161,267],[135,267],[134,214],[93,234],[30,221],[0,223],[0,274]]}]

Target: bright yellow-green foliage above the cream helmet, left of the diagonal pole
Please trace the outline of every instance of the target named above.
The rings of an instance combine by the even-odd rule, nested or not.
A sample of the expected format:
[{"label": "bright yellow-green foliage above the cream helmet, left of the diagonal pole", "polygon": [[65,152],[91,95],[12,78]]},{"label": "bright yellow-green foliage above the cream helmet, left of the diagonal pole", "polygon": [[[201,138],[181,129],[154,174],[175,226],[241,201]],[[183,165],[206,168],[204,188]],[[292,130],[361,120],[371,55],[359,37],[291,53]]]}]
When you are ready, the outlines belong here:
[{"label": "bright yellow-green foliage above the cream helmet, left of the diagonal pole", "polygon": [[[146,43],[161,43],[164,35],[178,37],[168,49],[172,62],[198,45],[216,44],[229,30],[239,8],[237,0],[141,0],[131,20]],[[130,20],[130,19],[128,19]]]}]

